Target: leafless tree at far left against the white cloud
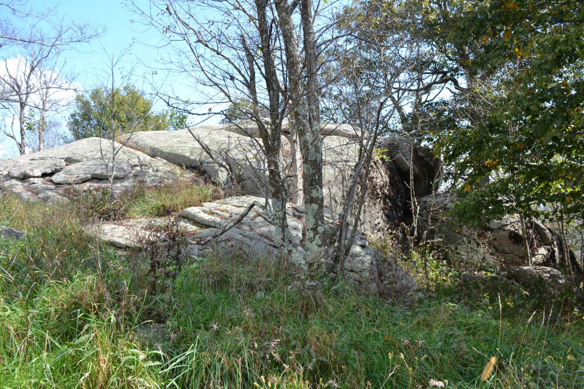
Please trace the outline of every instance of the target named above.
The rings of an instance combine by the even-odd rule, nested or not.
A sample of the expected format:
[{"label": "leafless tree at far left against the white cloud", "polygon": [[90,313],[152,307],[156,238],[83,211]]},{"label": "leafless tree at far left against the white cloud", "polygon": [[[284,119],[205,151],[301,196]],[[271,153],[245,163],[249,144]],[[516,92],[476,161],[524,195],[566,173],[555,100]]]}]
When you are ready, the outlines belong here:
[{"label": "leafless tree at far left against the white cloud", "polygon": [[[39,149],[43,149],[46,114],[54,108],[54,91],[71,87],[71,82],[60,85],[60,53],[79,50],[101,36],[103,29],[65,20],[57,16],[54,7],[33,7],[22,0],[0,2],[0,15],[0,47],[9,47],[16,54],[12,61],[3,56],[4,69],[0,69],[0,105],[11,111],[5,113],[5,122],[6,116],[15,119],[9,120],[12,128],[4,134],[16,142],[22,155],[27,152],[27,109],[36,107],[40,111],[37,135]],[[15,66],[11,68],[9,64]]]}]

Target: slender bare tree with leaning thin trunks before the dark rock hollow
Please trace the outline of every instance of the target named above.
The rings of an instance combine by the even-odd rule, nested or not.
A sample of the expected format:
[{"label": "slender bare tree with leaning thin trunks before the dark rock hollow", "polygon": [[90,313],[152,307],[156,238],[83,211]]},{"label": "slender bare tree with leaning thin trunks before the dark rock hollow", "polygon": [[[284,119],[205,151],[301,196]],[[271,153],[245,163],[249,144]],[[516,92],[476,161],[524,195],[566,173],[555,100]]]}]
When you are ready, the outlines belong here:
[{"label": "slender bare tree with leaning thin trunks before the dark rock hollow", "polygon": [[[359,158],[335,235],[333,258],[338,271],[342,271],[357,230],[374,149],[378,148],[377,157],[383,163],[399,160],[409,164],[410,174],[404,184],[409,187],[409,205],[417,215],[416,195],[420,193],[415,191],[412,158],[427,131],[418,111],[436,98],[447,81],[442,73],[433,71],[432,47],[412,33],[415,29],[405,28],[416,23],[415,11],[408,2],[387,9],[381,3],[366,1],[354,3],[337,15],[343,22],[328,55],[342,55],[326,68],[331,81],[324,91],[324,111],[333,120],[352,123],[361,131],[356,139]],[[384,138],[388,135],[392,138]],[[404,145],[403,155],[388,153],[385,142]],[[405,227],[413,248],[418,223]]]}]

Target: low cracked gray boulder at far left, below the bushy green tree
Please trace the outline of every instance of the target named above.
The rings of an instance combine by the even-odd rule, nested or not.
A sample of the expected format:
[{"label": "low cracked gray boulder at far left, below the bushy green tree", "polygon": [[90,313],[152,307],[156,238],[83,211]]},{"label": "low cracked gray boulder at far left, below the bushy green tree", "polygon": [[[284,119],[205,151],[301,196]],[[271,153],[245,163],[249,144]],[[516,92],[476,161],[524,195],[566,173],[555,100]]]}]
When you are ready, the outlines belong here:
[{"label": "low cracked gray boulder at far left, below the bushy green tree", "polygon": [[[86,138],[54,149],[0,160],[0,191],[26,201],[66,202],[71,195],[109,188],[111,143]],[[179,175],[194,180],[196,174],[161,158],[116,143],[113,180],[115,195],[138,184],[172,183]],[[200,180],[197,179],[197,182]]]}]

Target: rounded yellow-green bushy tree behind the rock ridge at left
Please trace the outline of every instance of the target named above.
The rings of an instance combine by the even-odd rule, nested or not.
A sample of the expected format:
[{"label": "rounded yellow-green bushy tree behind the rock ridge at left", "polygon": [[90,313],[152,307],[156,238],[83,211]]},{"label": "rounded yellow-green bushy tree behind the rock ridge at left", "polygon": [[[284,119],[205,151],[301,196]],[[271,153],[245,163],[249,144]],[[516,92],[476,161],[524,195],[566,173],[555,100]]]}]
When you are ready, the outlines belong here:
[{"label": "rounded yellow-green bushy tree behind the rock ridge at left", "polygon": [[110,138],[112,114],[119,134],[132,131],[161,131],[186,127],[186,115],[175,110],[152,111],[152,100],[134,85],[112,90],[96,87],[75,97],[74,111],[69,115],[71,140],[100,136]]}]

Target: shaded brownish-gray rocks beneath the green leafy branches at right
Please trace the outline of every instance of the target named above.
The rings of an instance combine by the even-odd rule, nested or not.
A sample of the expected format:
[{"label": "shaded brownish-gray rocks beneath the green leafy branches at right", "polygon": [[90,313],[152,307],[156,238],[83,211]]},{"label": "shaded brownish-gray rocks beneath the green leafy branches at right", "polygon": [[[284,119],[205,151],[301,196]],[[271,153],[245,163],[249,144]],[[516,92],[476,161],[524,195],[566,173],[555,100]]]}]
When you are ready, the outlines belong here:
[{"label": "shaded brownish-gray rocks beneath the green leafy branches at right", "polygon": [[[427,229],[428,240],[436,240],[441,246],[455,250],[486,243],[493,257],[503,265],[528,265],[518,216],[506,216],[482,228],[458,226],[454,220],[444,216],[445,212],[453,208],[455,199],[448,193],[419,199],[420,226],[422,230]],[[527,223],[527,241],[530,245],[531,265],[557,267],[561,243],[553,230],[538,220],[531,220]]]}]

